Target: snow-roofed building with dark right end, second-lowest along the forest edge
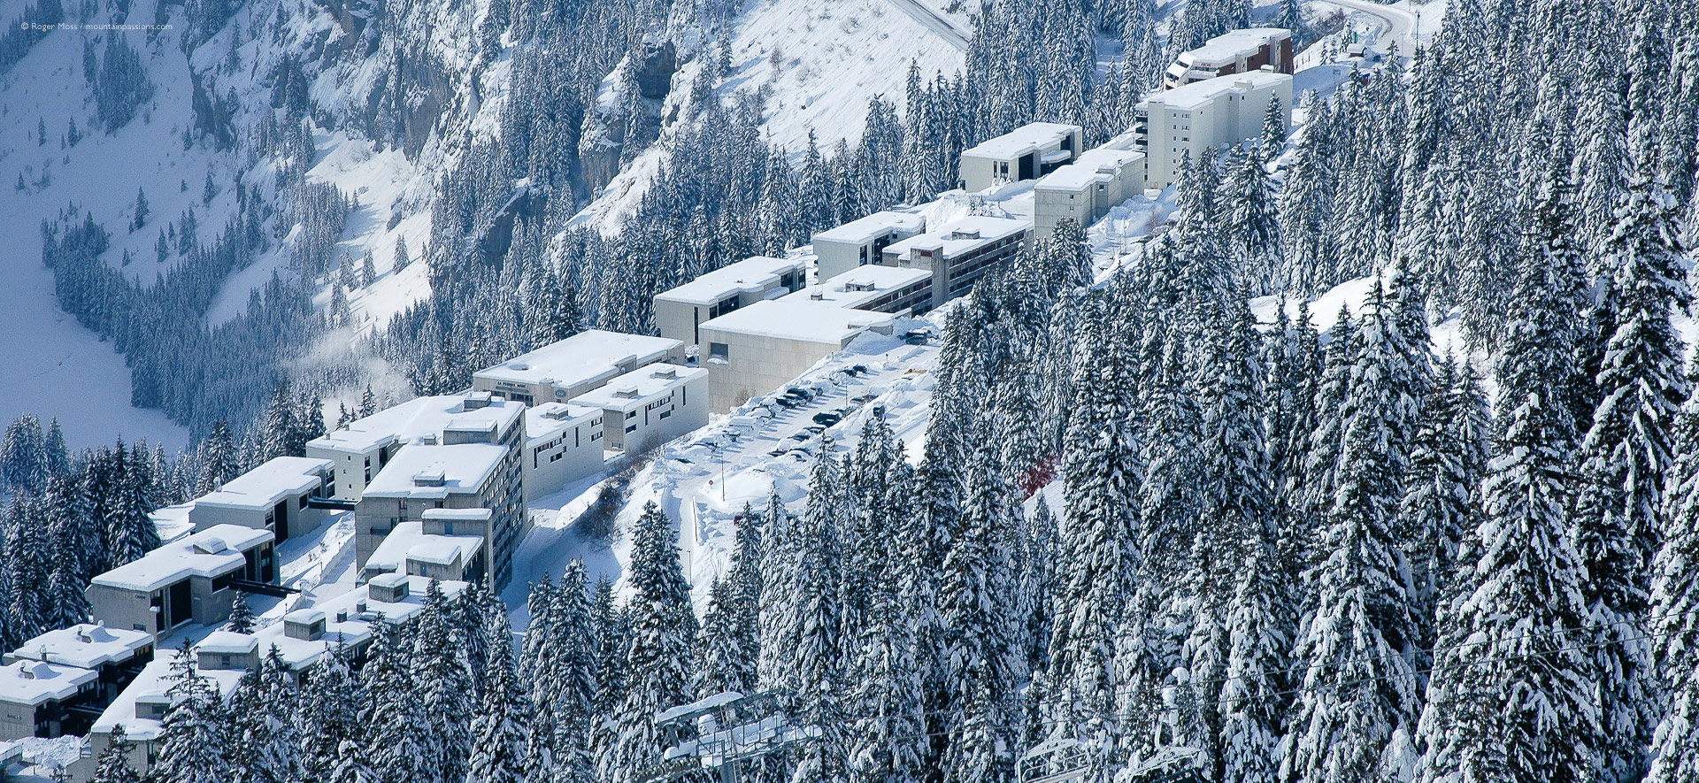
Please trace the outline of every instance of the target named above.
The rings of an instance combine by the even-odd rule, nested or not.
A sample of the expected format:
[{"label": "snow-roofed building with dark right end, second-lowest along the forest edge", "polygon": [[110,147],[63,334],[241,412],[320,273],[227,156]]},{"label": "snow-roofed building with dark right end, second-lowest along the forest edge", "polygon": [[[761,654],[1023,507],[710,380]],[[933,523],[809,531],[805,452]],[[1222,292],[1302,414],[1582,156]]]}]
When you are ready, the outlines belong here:
[{"label": "snow-roofed building with dark right end, second-lowest along the forest edge", "polygon": [[189,521],[195,530],[214,525],[270,530],[282,544],[319,525],[325,499],[336,491],[333,465],[328,459],[275,457],[197,498]]}]

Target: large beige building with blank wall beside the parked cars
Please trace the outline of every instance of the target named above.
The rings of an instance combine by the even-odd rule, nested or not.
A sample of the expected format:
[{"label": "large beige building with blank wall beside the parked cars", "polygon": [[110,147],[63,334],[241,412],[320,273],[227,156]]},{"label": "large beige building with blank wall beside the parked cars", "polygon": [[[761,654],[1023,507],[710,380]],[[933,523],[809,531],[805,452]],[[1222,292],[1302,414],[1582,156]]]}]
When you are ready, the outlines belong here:
[{"label": "large beige building with blank wall beside the parked cars", "polygon": [[708,404],[731,411],[788,384],[863,331],[890,335],[892,316],[831,302],[759,302],[702,324]]}]

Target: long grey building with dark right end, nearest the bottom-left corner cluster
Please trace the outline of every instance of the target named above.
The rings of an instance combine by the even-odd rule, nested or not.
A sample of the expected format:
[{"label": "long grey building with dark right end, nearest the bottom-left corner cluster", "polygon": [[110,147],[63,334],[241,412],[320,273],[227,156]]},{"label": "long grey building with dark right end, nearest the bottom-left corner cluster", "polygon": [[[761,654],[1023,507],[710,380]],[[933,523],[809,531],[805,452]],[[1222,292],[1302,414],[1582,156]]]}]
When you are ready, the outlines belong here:
[{"label": "long grey building with dark right end, nearest the bottom-left corner cluster", "polygon": [[95,620],[155,639],[229,618],[234,581],[277,583],[270,530],[214,525],[95,576],[83,593]]}]

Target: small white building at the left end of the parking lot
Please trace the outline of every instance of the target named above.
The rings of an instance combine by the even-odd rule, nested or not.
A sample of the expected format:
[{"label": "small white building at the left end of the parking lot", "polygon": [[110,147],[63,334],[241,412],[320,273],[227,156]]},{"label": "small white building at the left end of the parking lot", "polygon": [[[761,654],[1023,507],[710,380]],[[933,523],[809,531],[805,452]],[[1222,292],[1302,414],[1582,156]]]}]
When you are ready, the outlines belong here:
[{"label": "small white building at the left end of the parking lot", "polygon": [[601,409],[603,448],[641,453],[708,425],[708,370],[654,363],[573,397]]}]

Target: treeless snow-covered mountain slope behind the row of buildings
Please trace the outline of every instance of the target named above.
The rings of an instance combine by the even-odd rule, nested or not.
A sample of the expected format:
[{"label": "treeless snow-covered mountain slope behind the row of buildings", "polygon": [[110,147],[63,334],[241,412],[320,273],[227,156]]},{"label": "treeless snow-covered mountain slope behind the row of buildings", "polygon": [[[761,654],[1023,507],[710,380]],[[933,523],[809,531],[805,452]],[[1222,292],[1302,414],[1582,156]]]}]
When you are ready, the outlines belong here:
[{"label": "treeless snow-covered mountain slope behind the row of buildings", "polygon": [[[0,370],[0,420],[20,413],[59,416],[76,445],[105,442],[117,433],[170,445],[185,440],[185,433],[163,416],[122,404],[129,399],[124,357],[58,311],[53,275],[41,267],[39,226],[70,204],[85,209],[112,239],[102,262],[146,287],[180,260],[175,238],[167,258],[156,260],[160,231],[175,229],[192,209],[199,241],[214,241],[224,223],[238,214],[240,182],[245,199],[265,202],[263,231],[270,241],[214,290],[204,324],[219,328],[246,313],[251,296],[274,275],[285,280],[297,275],[291,243],[301,228],[292,224],[289,194],[280,187],[280,163],[257,153],[262,144],[253,143],[267,114],[270,121],[287,122],[279,109],[284,75],[299,73],[296,92],[308,104],[313,151],[304,182],[331,183],[355,202],[330,253],[331,272],[336,258],[345,255],[358,265],[367,251],[377,272],[374,282],[362,280],[347,294],[348,324],[321,338],[321,345],[302,352],[308,358],[296,362],[323,367],[347,360],[358,338],[374,335],[430,294],[426,265],[399,273],[391,265],[399,241],[415,260],[426,248],[430,209],[442,177],[474,146],[500,141],[501,112],[511,97],[511,54],[481,54],[477,24],[488,2],[391,3],[394,14],[404,14],[394,22],[408,25],[404,36],[377,32],[369,3],[362,2],[246,0],[231,5],[228,24],[209,31],[180,3],[160,7],[156,0],[136,0],[126,22],[158,20],[168,27],[153,32],[61,27],[0,76],[0,178],[7,185],[24,180],[22,189],[0,192],[0,229],[15,238],[3,255],[14,285],[0,294],[0,326],[7,335],[37,335],[0,346],[5,367]],[[401,7],[408,10],[394,10]],[[763,131],[795,155],[802,153],[810,131],[822,148],[838,139],[853,143],[873,97],[894,100],[900,110],[911,65],[928,76],[962,68],[970,27],[965,7],[948,0],[744,2],[727,22],[731,70],[715,93],[729,100],[737,92],[759,92]],[[97,3],[95,8],[88,19],[93,25],[117,19],[114,7]],[[680,27],[680,22],[671,25]],[[668,109],[686,100],[703,66],[698,54],[717,49],[707,31],[683,27],[668,31],[681,42]],[[112,134],[93,126],[95,90],[83,73],[85,42],[99,51],[105,36],[124,36],[139,53],[153,85],[136,119]],[[185,54],[183,36],[204,42]],[[404,37],[411,46],[392,44],[392,37]],[[409,66],[428,61],[425,70],[433,75],[428,88],[413,90],[426,93],[428,100],[403,110],[411,124],[404,143],[372,138],[381,132],[374,107],[381,104],[386,73],[394,73],[394,63],[403,59]],[[615,75],[608,75],[605,85],[613,80]],[[207,117],[224,124],[228,143],[200,138],[199,129],[194,141],[185,141]],[[676,112],[663,117],[659,143],[615,172],[612,183],[593,194],[581,221],[605,233],[618,231],[649,177],[668,158],[676,126],[690,121],[678,119]],[[65,139],[73,121],[82,136],[75,146]],[[48,129],[46,143],[39,139],[41,124]],[[207,177],[214,182],[211,200],[202,199]],[[146,194],[151,216],[133,231],[138,190]],[[291,223],[279,224],[282,221]],[[335,273],[311,284],[318,285],[314,304],[331,307]],[[170,318],[194,316],[173,313]],[[377,377],[381,394],[384,386],[394,394],[408,391],[406,380],[382,365],[370,367],[369,374]],[[355,394],[357,387],[333,389],[326,394],[328,404],[335,409],[336,397],[352,401]]]}]

